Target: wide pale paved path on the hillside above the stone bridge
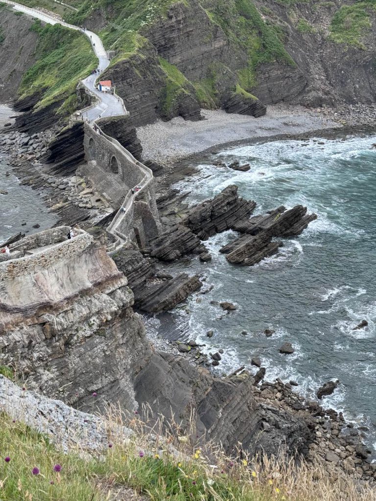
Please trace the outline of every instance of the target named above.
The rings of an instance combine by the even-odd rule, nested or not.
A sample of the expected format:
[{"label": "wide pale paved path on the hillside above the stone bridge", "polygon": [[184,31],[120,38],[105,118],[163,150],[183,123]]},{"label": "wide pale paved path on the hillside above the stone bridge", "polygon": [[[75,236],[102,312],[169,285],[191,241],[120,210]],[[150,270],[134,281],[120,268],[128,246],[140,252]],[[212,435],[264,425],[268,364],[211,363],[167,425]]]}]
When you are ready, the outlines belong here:
[{"label": "wide pale paved path on the hillside above the stone bridge", "polygon": [[[45,12],[39,11],[38,9],[31,9],[29,7],[25,7],[24,5],[17,4],[16,2],[11,2],[10,0],[0,1],[13,6],[16,11],[29,14],[30,16],[33,16],[33,18],[40,19],[41,21],[49,23],[50,25],[59,24],[61,26],[65,26],[66,28],[70,28],[71,30],[82,31],[78,26],[65,23],[58,17],[54,16],[53,13],[47,14]],[[95,52],[95,55],[99,60],[98,67],[100,68],[100,73],[103,73],[103,71],[109,66],[110,61],[107,58],[106,51],[103,47],[101,39],[98,37],[98,35],[89,30],[82,31],[82,33],[84,33],[90,40],[93,51]],[[82,81],[82,83],[90,90],[90,92],[94,93],[100,100],[97,105],[85,111],[84,118],[88,118],[89,122],[93,122],[99,117],[125,115],[126,109],[120,98],[112,94],[104,94],[103,92],[99,92],[95,87],[95,80],[97,79],[97,77],[97,74],[90,75]]]}]

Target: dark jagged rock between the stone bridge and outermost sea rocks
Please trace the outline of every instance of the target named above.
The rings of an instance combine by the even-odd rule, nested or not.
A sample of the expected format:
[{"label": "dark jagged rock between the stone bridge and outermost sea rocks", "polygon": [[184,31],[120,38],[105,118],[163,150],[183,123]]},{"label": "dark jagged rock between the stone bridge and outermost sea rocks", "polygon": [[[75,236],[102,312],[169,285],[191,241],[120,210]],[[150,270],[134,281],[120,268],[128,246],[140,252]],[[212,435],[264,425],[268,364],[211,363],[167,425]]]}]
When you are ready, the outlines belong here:
[{"label": "dark jagged rock between the stone bridge and outermost sea rocks", "polygon": [[249,217],[256,202],[238,196],[238,186],[227,186],[211,200],[189,210],[182,222],[202,240],[233,227],[240,219]]}]

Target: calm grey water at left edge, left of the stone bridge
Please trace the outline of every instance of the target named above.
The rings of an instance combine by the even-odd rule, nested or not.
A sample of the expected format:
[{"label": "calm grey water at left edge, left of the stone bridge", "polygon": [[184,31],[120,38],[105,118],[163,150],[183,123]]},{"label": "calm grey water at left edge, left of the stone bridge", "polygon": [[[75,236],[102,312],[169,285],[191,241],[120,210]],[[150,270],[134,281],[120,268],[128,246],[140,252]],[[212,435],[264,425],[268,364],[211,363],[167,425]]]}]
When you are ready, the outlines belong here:
[{"label": "calm grey water at left edge, left of the stone bridge", "polygon": [[[9,175],[7,175],[9,172]],[[38,191],[20,185],[20,180],[7,163],[7,156],[0,154],[0,243],[22,231],[26,234],[50,228],[57,220],[50,213]],[[23,224],[26,223],[26,224]],[[39,228],[33,228],[39,224]]]}]

